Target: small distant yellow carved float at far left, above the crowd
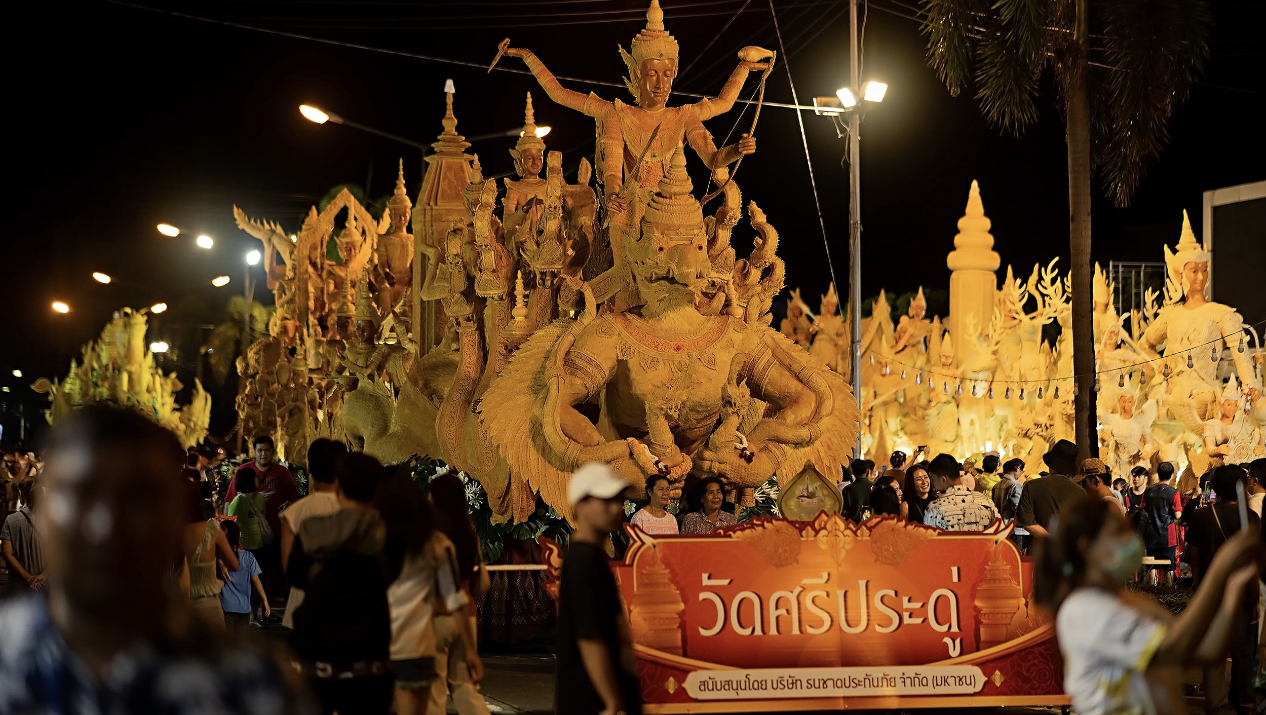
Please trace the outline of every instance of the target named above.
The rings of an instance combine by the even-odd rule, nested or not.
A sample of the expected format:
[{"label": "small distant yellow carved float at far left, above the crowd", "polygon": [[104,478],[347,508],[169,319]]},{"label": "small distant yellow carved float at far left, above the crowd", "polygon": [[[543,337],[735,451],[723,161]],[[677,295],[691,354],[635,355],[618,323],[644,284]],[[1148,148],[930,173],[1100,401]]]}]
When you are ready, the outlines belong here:
[{"label": "small distant yellow carved float at far left, above the crowd", "polygon": [[177,405],[182,385],[176,373],[163,375],[146,342],[147,309],[124,308],[101,329],[101,335],[84,345],[80,361],[71,361],[66,380],[39,378],[32,385],[48,395],[49,424],[81,405],[110,401],[133,407],[170,429],[182,447],[206,437],[211,420],[211,397],[194,381],[187,405]]}]

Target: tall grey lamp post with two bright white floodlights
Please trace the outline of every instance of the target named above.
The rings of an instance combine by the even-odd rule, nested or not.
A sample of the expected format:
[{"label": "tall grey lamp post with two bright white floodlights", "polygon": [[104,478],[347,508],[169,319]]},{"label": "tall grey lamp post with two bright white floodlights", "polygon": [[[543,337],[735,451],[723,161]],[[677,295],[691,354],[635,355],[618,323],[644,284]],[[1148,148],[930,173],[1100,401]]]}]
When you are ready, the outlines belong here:
[{"label": "tall grey lamp post with two bright white floodlights", "polygon": [[[884,101],[887,85],[884,82],[861,81],[861,66],[857,42],[857,0],[848,3],[848,46],[849,46],[849,85],[836,92],[836,96],[813,99],[814,114],[829,116],[836,124],[836,135],[848,138],[848,319],[852,321],[852,349],[849,364],[852,372],[853,396],[857,397],[858,413],[862,406],[862,114],[871,105]],[[841,119],[841,115],[844,119]],[[853,457],[861,458],[862,440],[857,439]]]}]

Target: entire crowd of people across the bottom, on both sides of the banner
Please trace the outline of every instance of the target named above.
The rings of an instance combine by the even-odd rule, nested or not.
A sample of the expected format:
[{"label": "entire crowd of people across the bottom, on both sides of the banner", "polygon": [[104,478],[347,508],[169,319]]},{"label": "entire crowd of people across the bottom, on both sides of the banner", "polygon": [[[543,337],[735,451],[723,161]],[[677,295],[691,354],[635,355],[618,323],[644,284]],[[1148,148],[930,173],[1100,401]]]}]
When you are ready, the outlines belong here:
[{"label": "entire crowd of people across the bottom, on both sides of the banner", "polygon": [[[94,405],[57,425],[42,463],[6,464],[0,712],[434,714],[448,696],[462,715],[489,711],[473,600],[490,580],[460,477],[423,488],[404,467],[318,439],[301,496],[271,438],[253,453],[220,494],[206,454],[134,411]],[[1099,459],[1079,463],[1069,442],[1036,475],[999,454],[979,468],[920,456],[896,452],[879,471],[855,461],[839,485],[844,516],[1010,525],[1034,561],[1034,601],[1055,614],[1077,712],[1176,710],[1185,666],[1204,668],[1208,711],[1256,707],[1266,459],[1220,466],[1184,495],[1172,464],[1125,480]],[[629,491],[604,464],[568,486],[557,712],[641,711],[608,562]],[[646,492],[629,521],[649,534],[738,520],[715,477],[689,485],[680,514],[667,478],[652,476]],[[1127,588],[1148,573],[1190,573],[1181,615]],[[284,645],[253,637],[276,620]]]}]

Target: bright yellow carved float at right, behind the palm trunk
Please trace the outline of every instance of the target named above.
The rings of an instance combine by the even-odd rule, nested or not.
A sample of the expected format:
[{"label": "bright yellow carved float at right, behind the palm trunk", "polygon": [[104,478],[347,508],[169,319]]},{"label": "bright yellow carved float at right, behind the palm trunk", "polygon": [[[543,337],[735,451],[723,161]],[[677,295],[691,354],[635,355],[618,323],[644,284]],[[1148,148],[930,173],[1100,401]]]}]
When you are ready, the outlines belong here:
[{"label": "bright yellow carved float at right, behind the palm trunk", "polygon": [[[972,182],[948,259],[948,330],[939,318],[923,320],[922,289],[895,329],[882,291],[863,320],[862,443],[876,459],[927,444],[933,454],[960,457],[996,449],[1037,469],[1050,444],[1072,438],[1070,283],[1052,262],[1034,266],[1027,281],[1008,268],[998,285],[1000,259],[989,228]],[[1186,214],[1176,251],[1166,246],[1165,254],[1169,276],[1158,310],[1160,295],[1148,291],[1142,309],[1118,315],[1108,277],[1095,266],[1099,438],[1115,475],[1160,461],[1190,464],[1199,475],[1263,456],[1257,333],[1233,308],[1209,301],[1209,252]],[[833,296],[823,297],[823,315],[833,315]],[[1042,338],[1052,321],[1062,328],[1053,347]],[[846,348],[833,332],[818,329],[809,351],[839,368],[847,362],[827,356]]]}]

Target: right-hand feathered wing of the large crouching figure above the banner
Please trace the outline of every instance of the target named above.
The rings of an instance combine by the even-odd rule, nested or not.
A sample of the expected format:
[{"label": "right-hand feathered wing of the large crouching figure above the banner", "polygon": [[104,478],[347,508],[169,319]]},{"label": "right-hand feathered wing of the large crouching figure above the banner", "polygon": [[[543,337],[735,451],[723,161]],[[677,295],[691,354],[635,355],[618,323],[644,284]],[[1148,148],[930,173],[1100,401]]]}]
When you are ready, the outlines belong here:
[{"label": "right-hand feathered wing of the large crouching figure above the banner", "polygon": [[844,382],[843,376],[801,349],[786,335],[774,329],[767,329],[766,335],[771,349],[782,353],[791,364],[815,368],[827,381],[833,397],[830,414],[823,416],[818,423],[822,437],[813,444],[793,447],[787,451],[786,458],[779,466],[779,485],[785,486],[794,480],[806,462],[813,462],[813,466],[828,478],[838,477],[852,459],[853,447],[857,444],[858,413],[857,399],[853,397],[852,389]]}]

